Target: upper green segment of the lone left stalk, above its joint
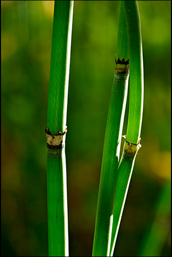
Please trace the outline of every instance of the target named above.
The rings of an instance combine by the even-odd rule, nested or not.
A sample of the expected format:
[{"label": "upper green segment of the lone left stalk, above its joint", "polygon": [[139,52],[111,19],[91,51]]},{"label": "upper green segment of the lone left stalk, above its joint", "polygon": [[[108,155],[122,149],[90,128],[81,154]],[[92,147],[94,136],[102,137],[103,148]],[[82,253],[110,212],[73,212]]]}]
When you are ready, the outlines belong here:
[{"label": "upper green segment of the lone left stalk, above its joint", "polygon": [[51,134],[66,129],[72,19],[73,1],[55,1],[47,112]]}]

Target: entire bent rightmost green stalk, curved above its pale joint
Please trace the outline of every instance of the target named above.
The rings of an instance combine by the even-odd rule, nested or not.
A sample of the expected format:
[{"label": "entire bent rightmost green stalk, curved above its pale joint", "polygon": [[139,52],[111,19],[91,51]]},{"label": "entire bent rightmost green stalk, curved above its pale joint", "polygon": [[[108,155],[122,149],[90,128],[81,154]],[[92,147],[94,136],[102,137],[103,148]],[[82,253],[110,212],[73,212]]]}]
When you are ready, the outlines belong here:
[{"label": "entire bent rightmost green stalk, curved above its pale joint", "polygon": [[111,256],[113,256],[125,199],[130,185],[136,154],[141,147],[140,132],[143,113],[143,57],[140,17],[137,1],[123,1],[130,59],[130,104],[127,133],[122,157],[118,166],[115,191],[114,222],[112,228]]}]

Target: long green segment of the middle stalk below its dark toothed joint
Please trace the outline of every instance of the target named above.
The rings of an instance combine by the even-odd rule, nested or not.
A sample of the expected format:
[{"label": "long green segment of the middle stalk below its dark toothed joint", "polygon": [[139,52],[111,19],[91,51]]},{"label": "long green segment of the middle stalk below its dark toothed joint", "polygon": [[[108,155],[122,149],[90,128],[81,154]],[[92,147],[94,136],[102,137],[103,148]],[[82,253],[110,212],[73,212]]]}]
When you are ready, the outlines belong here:
[{"label": "long green segment of the middle stalk below its dark toothed joint", "polygon": [[[116,75],[115,75],[116,77]],[[112,215],[114,208],[116,172],[125,112],[128,79],[114,79],[109,112],[107,115],[101,164],[93,256],[108,256],[111,242]]]}]

